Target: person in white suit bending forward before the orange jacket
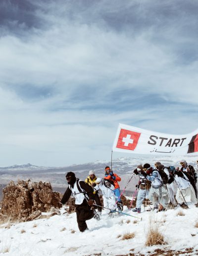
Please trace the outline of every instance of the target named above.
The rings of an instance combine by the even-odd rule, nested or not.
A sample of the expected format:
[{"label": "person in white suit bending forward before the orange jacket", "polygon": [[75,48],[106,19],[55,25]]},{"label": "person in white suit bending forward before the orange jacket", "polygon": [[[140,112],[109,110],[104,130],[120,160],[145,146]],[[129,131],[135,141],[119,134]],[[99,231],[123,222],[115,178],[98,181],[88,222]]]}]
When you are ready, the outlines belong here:
[{"label": "person in white suit bending forward before the orange jacket", "polygon": [[102,192],[103,206],[108,208],[107,213],[113,212],[116,209],[116,197],[113,192],[114,186],[105,179],[97,178],[94,190]]}]

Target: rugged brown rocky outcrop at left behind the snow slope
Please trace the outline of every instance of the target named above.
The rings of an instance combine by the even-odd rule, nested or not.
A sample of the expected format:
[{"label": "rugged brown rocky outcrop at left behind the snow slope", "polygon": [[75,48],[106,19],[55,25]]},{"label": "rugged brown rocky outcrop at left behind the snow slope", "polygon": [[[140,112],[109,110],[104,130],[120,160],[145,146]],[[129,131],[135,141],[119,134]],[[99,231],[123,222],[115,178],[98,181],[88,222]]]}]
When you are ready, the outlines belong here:
[{"label": "rugged brown rocky outcrop at left behind the snow slope", "polygon": [[13,181],[3,189],[0,218],[26,221],[38,218],[51,207],[59,208],[62,194],[53,192],[49,182]]}]

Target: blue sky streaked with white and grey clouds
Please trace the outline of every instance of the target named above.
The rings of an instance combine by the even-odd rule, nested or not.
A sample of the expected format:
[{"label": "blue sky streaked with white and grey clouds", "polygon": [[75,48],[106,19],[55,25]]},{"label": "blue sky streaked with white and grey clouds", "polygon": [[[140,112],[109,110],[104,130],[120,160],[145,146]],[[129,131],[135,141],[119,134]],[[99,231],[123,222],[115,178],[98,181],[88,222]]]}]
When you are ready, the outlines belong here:
[{"label": "blue sky streaked with white and grey clouds", "polygon": [[119,123],[197,129],[197,12],[195,0],[1,0],[0,166],[110,160]]}]

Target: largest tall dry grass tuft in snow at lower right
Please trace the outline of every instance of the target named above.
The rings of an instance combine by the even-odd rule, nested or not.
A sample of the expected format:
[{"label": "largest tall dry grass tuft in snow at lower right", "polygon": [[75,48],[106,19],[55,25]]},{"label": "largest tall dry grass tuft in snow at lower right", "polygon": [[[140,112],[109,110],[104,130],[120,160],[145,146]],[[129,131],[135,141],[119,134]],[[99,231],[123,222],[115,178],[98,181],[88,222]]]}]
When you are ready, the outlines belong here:
[{"label": "largest tall dry grass tuft in snow at lower right", "polygon": [[152,214],[149,216],[149,226],[146,246],[164,245],[164,237],[158,229],[157,221],[154,221]]}]

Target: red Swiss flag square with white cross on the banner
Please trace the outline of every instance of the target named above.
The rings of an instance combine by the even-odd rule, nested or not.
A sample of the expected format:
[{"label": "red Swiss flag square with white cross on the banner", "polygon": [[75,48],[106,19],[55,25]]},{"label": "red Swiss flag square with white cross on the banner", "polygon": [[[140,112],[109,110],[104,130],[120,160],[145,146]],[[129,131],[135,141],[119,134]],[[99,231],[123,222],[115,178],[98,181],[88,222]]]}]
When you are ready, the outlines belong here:
[{"label": "red Swiss flag square with white cross on the banner", "polygon": [[140,132],[120,129],[117,146],[118,148],[134,150],[140,138]]}]

